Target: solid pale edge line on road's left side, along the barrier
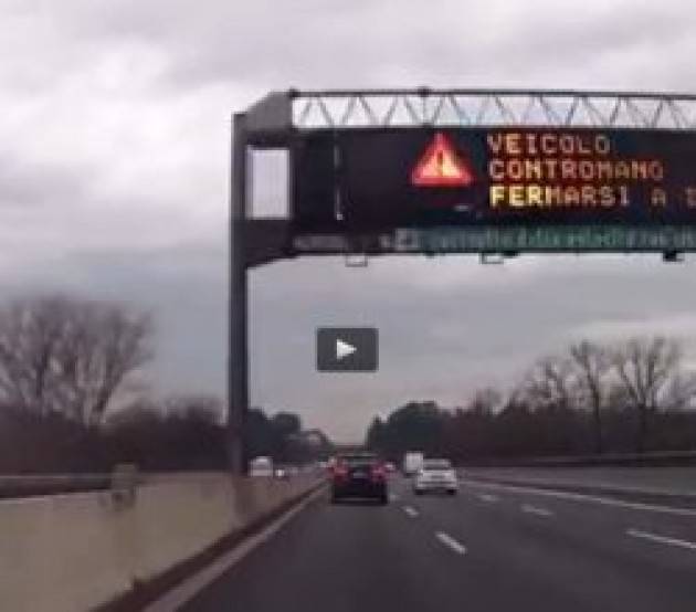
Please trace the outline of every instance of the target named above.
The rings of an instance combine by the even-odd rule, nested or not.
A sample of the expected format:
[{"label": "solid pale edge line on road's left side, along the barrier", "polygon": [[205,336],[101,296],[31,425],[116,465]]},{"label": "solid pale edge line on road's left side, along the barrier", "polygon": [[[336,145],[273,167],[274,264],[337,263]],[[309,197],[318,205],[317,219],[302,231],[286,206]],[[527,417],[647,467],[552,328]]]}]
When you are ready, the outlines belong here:
[{"label": "solid pale edge line on road's left side, along the barrier", "polygon": [[199,570],[193,576],[187,578],[177,587],[167,591],[161,598],[147,605],[143,612],[171,612],[178,610],[184,603],[193,599],[200,591],[208,588],[212,582],[218,580],[230,568],[239,563],[244,557],[252,552],[260,545],[270,540],[281,528],[303,511],[317,497],[324,495],[324,486],[312,493],[303,502],[293,506],[289,510],[275,519],[271,525],[265,527],[259,534],[250,536],[242,540],[239,545],[215,559],[212,563]]}]

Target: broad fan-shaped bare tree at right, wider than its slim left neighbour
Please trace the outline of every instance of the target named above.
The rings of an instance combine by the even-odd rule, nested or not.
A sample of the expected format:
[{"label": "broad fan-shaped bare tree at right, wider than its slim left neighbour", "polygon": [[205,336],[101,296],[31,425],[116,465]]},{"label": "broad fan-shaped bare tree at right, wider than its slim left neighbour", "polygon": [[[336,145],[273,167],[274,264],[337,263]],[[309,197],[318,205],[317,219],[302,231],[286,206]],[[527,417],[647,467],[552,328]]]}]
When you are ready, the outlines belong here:
[{"label": "broad fan-shaped bare tree at right, wider than its slim left neighbour", "polygon": [[678,372],[681,350],[664,337],[633,338],[613,352],[613,366],[637,411],[636,451],[645,450],[650,414]]}]

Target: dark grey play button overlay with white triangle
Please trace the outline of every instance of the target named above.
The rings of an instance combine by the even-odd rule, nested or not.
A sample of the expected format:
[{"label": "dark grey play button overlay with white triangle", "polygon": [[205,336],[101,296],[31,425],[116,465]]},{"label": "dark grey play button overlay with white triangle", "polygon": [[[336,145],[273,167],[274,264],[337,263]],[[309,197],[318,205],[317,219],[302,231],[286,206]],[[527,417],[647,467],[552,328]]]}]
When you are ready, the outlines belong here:
[{"label": "dark grey play button overlay with white triangle", "polygon": [[378,352],[375,327],[317,329],[317,370],[320,372],[375,372]]}]

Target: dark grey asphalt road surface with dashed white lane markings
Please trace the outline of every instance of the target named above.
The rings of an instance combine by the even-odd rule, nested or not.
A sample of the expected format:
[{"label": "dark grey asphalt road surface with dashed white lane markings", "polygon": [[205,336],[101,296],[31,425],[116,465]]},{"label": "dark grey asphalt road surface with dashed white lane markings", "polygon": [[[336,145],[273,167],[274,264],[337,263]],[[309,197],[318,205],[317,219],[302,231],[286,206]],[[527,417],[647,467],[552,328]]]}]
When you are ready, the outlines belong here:
[{"label": "dark grey asphalt road surface with dashed white lane markings", "polygon": [[187,612],[696,610],[696,510],[465,483],[312,503]]}]

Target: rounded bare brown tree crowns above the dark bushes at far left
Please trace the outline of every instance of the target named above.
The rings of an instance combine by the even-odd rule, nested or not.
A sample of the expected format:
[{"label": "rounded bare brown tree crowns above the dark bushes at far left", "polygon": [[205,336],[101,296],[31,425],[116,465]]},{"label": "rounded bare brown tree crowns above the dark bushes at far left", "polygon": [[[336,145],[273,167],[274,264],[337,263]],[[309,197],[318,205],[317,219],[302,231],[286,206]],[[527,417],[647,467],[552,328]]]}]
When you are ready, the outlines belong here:
[{"label": "rounded bare brown tree crowns above the dark bushes at far left", "polygon": [[151,323],[125,306],[34,297],[0,308],[0,393],[41,414],[98,423],[126,377],[148,361]]}]

